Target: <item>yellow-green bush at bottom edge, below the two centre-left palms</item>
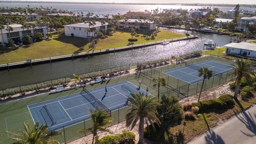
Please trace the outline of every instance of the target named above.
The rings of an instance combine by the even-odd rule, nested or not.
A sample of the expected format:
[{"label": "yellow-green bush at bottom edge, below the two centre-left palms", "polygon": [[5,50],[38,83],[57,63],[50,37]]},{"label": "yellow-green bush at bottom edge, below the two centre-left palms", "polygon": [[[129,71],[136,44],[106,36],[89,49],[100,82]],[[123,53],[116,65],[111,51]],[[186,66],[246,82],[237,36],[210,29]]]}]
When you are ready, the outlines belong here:
[{"label": "yellow-green bush at bottom edge, below the two centre-left palms", "polygon": [[123,131],[118,135],[107,135],[98,140],[98,144],[134,144],[135,134],[132,132]]}]

